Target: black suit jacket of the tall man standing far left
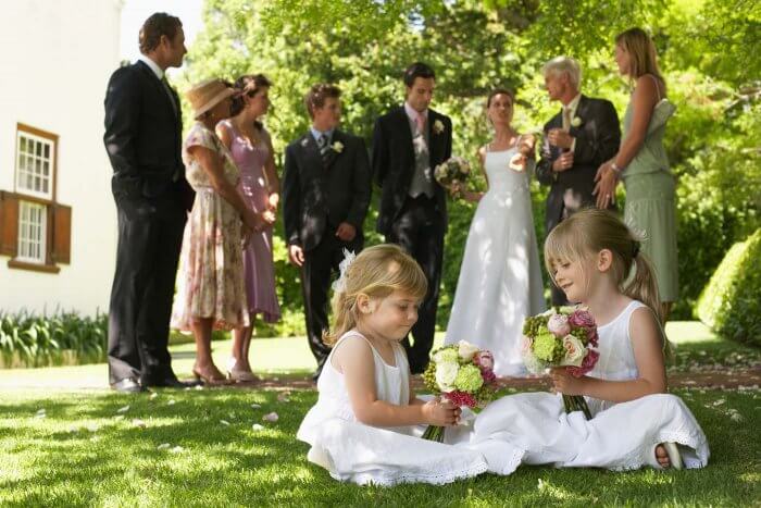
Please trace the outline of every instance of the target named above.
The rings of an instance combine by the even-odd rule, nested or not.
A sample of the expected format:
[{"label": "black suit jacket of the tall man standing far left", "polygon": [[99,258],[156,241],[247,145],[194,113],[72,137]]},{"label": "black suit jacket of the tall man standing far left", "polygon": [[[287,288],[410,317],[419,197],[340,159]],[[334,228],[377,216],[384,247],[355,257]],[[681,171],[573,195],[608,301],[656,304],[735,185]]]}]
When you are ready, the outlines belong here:
[{"label": "black suit jacket of the tall man standing far left", "polygon": [[144,62],[115,71],[105,92],[103,143],[114,170],[114,195],[154,199],[179,188],[190,209],[194,193],[182,158],[182,112],[177,94],[171,91],[172,98]]}]

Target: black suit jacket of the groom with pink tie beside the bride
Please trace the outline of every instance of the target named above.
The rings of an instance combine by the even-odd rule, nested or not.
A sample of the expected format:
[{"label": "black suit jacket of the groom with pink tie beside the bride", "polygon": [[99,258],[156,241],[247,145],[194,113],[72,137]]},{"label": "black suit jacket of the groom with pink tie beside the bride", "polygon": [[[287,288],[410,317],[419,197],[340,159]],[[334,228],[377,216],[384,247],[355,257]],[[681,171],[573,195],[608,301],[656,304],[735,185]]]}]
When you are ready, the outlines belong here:
[{"label": "black suit jacket of the groom with pink tie beside the bride", "polygon": [[[442,125],[436,132],[435,125]],[[452,121],[449,116],[428,110],[428,150],[431,169],[452,157]],[[412,148],[412,131],[404,107],[398,107],[380,116],[375,122],[373,134],[373,174],[382,188],[380,209],[378,211],[377,231],[383,235],[390,233],[410,191],[412,175],[415,171],[415,153]],[[447,196],[444,187],[434,182],[436,205],[447,226]]]}]

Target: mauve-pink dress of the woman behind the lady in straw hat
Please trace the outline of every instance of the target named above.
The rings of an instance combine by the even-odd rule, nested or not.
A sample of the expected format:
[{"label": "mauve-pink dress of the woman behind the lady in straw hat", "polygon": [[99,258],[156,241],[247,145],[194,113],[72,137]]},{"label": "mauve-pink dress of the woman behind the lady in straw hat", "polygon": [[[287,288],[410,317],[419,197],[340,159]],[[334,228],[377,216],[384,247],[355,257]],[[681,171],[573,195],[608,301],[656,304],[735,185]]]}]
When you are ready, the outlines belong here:
[{"label": "mauve-pink dress of the woman behind the lady in straw hat", "polygon": [[[264,164],[270,157],[272,143],[270,134],[262,128],[258,145],[251,145],[232,124],[225,120],[222,124],[232,134],[230,153],[240,170],[238,190],[246,203],[254,211],[266,209],[270,193],[264,176]],[[251,235],[244,248],[244,271],[248,310],[252,319],[262,314],[267,323],[280,319],[280,306],[275,289],[275,262],[272,253],[272,226]]]}]

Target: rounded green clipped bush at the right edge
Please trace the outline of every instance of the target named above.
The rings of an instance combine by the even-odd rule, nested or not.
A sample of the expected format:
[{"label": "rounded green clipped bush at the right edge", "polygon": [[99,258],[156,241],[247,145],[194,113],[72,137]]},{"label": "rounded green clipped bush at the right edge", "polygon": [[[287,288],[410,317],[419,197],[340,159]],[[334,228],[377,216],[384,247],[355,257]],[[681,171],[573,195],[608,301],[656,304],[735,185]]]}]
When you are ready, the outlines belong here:
[{"label": "rounded green clipped bush at the right edge", "polygon": [[761,346],[761,228],[735,244],[698,300],[698,317],[715,333]]}]

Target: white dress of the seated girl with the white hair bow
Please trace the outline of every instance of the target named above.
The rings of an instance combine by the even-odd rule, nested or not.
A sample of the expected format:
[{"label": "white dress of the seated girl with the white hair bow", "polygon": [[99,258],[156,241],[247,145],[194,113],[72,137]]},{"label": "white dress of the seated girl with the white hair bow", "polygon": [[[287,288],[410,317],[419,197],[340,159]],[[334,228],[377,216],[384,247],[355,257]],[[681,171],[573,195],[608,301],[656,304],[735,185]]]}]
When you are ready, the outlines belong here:
[{"label": "white dress of the seated girl with the white hair bow", "polygon": [[[447,430],[447,443],[422,439],[423,425],[375,428],[357,420],[344,382],[333,367],[333,352],[347,340],[366,340],[357,331],[340,337],[317,381],[317,402],[309,410],[297,438],[311,445],[307,458],[340,481],[358,484],[444,484],[489,471],[510,474],[521,463],[522,450],[489,439],[470,444],[469,428]],[[372,344],[367,342],[371,348]],[[400,344],[394,343],[395,364],[373,348],[378,400],[409,404],[410,368]]]}]

